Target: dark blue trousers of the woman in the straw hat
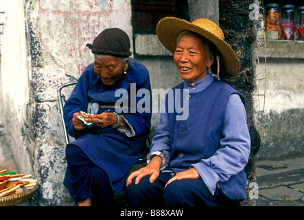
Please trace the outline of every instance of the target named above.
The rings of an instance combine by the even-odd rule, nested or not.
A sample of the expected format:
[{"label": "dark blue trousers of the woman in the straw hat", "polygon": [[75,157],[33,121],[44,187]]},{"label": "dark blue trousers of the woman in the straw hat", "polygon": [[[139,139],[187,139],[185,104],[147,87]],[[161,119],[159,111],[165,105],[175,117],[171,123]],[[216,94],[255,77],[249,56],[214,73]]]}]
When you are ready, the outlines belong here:
[{"label": "dark blue trousers of the woman in the straw hat", "polygon": [[143,177],[138,185],[133,179],[125,193],[128,206],[239,206],[218,188],[212,195],[201,178],[175,180],[165,188],[171,173],[160,173],[153,184],[149,178]]}]

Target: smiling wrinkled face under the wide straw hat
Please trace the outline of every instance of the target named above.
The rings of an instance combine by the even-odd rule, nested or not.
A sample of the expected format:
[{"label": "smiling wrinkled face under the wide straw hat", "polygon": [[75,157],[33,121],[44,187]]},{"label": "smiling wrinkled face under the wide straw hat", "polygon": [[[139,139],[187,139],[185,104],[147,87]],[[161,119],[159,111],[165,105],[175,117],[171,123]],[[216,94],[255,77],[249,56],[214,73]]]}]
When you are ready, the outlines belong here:
[{"label": "smiling wrinkled face under the wide straw hat", "polygon": [[194,83],[207,75],[207,66],[213,63],[213,53],[207,57],[202,40],[195,34],[187,33],[180,36],[174,62],[180,77]]}]

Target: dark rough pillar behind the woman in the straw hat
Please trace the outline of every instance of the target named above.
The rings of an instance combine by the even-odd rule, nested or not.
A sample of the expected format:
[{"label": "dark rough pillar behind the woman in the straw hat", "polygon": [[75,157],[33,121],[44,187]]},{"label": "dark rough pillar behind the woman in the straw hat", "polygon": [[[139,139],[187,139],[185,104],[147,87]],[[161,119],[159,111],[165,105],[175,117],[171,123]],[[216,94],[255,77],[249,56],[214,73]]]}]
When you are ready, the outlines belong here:
[{"label": "dark rough pillar behind the woman in the straw hat", "polygon": [[252,1],[219,1],[220,28],[222,28],[225,41],[235,50],[241,69],[236,76],[224,76],[222,81],[235,87],[243,94],[246,99],[247,124],[251,137],[251,151],[248,164],[245,168],[247,175],[247,199],[244,201],[245,206],[254,206],[255,198],[248,197],[249,191],[253,189],[250,183],[256,182],[255,177],[255,154],[259,150],[260,137],[255,128],[254,110],[253,109],[253,91],[254,91],[254,63],[253,63],[253,43],[255,34],[253,32],[253,19],[250,19],[249,12]]}]

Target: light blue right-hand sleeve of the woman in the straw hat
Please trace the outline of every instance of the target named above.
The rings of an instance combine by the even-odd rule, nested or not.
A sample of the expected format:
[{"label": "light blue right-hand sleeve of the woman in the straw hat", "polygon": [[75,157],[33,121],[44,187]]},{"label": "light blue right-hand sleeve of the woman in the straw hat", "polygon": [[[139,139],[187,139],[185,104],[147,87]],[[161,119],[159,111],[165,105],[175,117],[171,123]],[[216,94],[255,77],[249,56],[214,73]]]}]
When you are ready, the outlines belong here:
[{"label": "light blue right-hand sleeve of the woman in the straw hat", "polygon": [[250,135],[246,111],[239,95],[232,94],[227,104],[222,127],[221,147],[208,159],[191,166],[196,168],[210,192],[214,194],[218,181],[227,181],[244,169],[250,153]]}]

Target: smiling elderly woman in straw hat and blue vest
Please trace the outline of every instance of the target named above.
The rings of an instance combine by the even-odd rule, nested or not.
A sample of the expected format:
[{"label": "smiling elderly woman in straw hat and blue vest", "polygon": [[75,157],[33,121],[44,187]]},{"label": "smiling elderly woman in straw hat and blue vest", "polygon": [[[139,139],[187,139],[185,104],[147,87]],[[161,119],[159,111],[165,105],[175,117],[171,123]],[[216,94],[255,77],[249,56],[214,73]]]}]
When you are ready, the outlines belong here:
[{"label": "smiling elderly woman in straw hat and blue vest", "polygon": [[[250,153],[242,94],[218,80],[237,74],[239,61],[222,30],[207,19],[192,23],[174,17],[159,21],[156,32],[174,54],[184,82],[175,100],[189,102],[187,120],[176,120],[163,100],[148,165],[130,174],[130,206],[235,206],[245,199],[244,166]],[[216,60],[216,61],[215,61]],[[217,72],[213,77],[211,72]]]}]

